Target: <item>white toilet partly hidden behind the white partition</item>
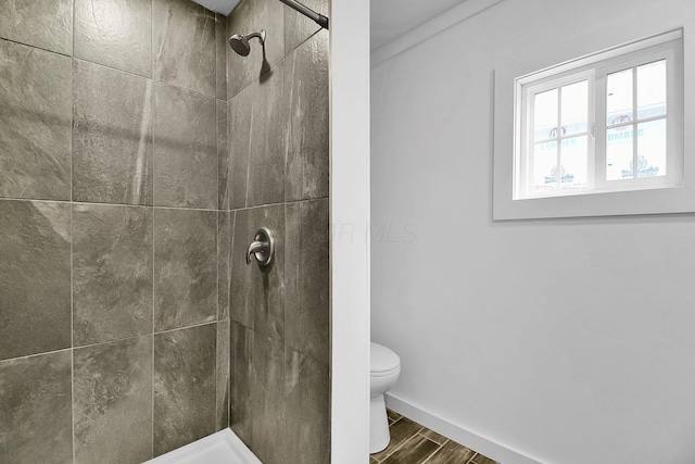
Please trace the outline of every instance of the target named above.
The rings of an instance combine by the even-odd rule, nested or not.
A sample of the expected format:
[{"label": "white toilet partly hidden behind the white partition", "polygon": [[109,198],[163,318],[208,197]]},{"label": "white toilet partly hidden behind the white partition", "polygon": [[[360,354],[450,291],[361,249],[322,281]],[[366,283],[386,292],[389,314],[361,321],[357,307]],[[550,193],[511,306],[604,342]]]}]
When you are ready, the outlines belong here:
[{"label": "white toilet partly hidden behind the white partition", "polygon": [[387,448],[391,440],[383,393],[399,379],[401,359],[387,347],[372,341],[370,371],[369,453],[377,453]]}]

